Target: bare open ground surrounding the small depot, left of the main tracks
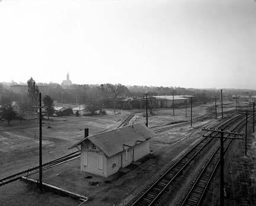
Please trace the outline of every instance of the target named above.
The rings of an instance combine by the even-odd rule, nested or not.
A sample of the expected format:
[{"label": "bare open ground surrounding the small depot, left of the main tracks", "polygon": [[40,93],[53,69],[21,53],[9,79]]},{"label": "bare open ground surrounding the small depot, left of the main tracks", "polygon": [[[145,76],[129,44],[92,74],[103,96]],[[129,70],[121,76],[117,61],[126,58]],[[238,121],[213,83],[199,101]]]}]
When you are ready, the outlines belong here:
[{"label": "bare open ground surrounding the small depot, left of the main tracks", "polygon": [[[195,107],[195,117],[207,114],[209,108],[212,108],[212,106],[213,104]],[[230,108],[225,108],[225,111],[228,110]],[[97,115],[94,117],[62,117],[55,118],[49,124],[44,124],[43,162],[72,152],[72,150],[68,150],[68,147],[84,136],[84,128],[88,127],[90,134],[116,128],[130,112],[134,111],[122,111],[122,114]],[[177,120],[187,120],[185,117],[185,108],[175,110],[175,117],[171,115],[171,109],[155,110],[154,113],[155,115],[149,117],[149,124],[151,126],[169,124]],[[134,118],[130,123],[145,122],[143,111],[136,114]],[[189,146],[194,144],[195,140],[198,141],[198,137],[200,136],[199,126],[207,122],[209,120],[194,124],[194,127],[197,129],[185,126],[158,134],[150,140],[152,155],[142,165],[126,175],[117,173],[108,179],[90,175],[92,178],[87,179],[86,177],[89,174],[80,172],[79,159],[76,159],[56,166],[55,168],[45,170],[44,181],[60,188],[91,197],[89,205],[112,205],[122,202],[125,204],[130,198],[134,197],[150,184],[154,178],[157,178],[165,168],[182,155]],[[52,128],[47,128],[49,125]],[[1,125],[1,177],[37,165],[38,137],[38,123],[36,121],[26,120],[22,124],[14,122],[11,127]],[[34,175],[33,178],[37,179],[37,175]],[[106,180],[108,181],[105,182]],[[61,198],[58,196],[56,198],[56,195],[50,192],[43,194],[43,197],[48,198],[39,201],[42,195],[37,194],[34,188],[27,186],[24,182],[13,182],[12,184],[2,186],[0,188],[0,194],[4,197],[0,200],[1,205],[10,205],[10,200],[12,200],[11,205],[20,205],[21,202],[24,205],[77,204],[73,200],[67,201],[64,197]],[[52,201],[52,198],[56,199],[55,203]],[[32,199],[33,201],[31,202],[38,202],[38,204],[30,204],[28,199]]]}]

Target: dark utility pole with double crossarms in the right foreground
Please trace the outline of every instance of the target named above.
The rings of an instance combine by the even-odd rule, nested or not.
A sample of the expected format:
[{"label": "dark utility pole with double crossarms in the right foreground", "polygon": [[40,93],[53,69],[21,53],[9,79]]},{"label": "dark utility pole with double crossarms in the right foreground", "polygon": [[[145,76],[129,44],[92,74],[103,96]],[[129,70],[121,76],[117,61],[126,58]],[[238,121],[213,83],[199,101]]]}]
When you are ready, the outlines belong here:
[{"label": "dark utility pole with double crossarms in the right foreground", "polygon": [[215,129],[215,128],[203,128],[203,131],[212,131],[220,133],[219,136],[203,136],[203,137],[216,137],[220,138],[220,206],[224,206],[224,144],[223,139],[239,139],[242,140],[242,138],[238,137],[224,137],[224,134],[233,134],[234,136],[243,136],[243,133],[233,133],[230,131],[223,131],[223,129]]}]

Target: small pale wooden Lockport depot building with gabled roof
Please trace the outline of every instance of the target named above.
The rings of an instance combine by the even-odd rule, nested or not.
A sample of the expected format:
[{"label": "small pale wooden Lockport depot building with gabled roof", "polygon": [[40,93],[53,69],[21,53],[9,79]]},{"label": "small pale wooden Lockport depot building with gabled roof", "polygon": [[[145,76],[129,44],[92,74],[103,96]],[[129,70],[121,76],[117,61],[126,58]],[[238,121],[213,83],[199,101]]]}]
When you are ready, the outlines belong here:
[{"label": "small pale wooden Lockport depot building with gabled roof", "polygon": [[148,140],[153,136],[139,123],[85,137],[71,148],[81,150],[81,171],[108,177],[148,155]]}]

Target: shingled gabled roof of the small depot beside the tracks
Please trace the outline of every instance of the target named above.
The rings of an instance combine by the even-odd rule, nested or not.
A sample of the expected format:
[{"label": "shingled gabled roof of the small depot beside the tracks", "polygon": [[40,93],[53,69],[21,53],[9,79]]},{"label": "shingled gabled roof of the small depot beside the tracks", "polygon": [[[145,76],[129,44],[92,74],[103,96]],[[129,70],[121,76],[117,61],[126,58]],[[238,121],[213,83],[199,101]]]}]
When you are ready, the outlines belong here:
[{"label": "shingled gabled roof of the small depot beside the tracks", "polygon": [[110,157],[122,152],[124,148],[127,149],[129,146],[133,147],[153,136],[155,136],[153,131],[139,123],[85,137],[81,141],[78,141],[78,143],[74,144],[71,148],[78,146],[83,141],[89,140],[91,143],[99,147],[105,156]]}]

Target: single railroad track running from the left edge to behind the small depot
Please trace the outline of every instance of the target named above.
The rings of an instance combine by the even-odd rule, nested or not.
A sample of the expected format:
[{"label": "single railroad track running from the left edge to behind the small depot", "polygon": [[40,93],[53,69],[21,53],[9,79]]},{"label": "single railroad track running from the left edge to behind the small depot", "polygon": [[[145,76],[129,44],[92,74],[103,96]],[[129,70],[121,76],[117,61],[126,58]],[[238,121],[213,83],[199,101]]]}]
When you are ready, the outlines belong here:
[{"label": "single railroad track running from the left edge to behind the small depot", "polygon": [[[81,155],[80,151],[76,151],[76,152],[70,153],[68,155],[59,157],[59,158],[57,158],[55,160],[52,160],[50,162],[46,162],[46,163],[43,164],[43,170],[44,169],[49,169],[53,166],[60,165],[62,163],[65,163],[65,162],[68,162],[70,160],[76,159],[76,158],[80,157],[80,155]],[[14,181],[20,179],[21,177],[23,177],[24,175],[31,175],[32,173],[37,173],[37,172],[39,172],[39,166],[36,166],[34,168],[30,168],[30,169],[27,169],[27,170],[23,170],[21,172],[15,173],[13,175],[7,176],[5,178],[0,179],[0,186],[11,183],[11,182],[14,182]]]}]

